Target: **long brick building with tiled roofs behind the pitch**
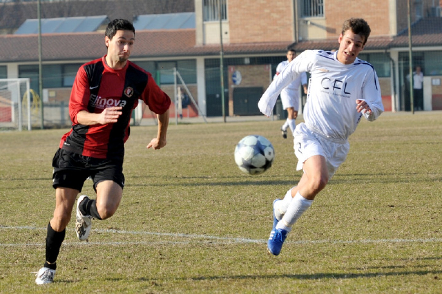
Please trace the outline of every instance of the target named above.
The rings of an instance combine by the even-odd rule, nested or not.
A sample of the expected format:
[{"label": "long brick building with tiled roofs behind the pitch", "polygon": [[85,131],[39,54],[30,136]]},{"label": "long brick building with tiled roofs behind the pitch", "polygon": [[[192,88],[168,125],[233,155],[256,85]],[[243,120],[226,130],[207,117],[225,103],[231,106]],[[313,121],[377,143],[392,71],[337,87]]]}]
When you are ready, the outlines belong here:
[{"label": "long brick building with tiled roofs behind the pitch", "polygon": [[[126,18],[137,29],[131,60],[157,76],[171,97],[175,68],[202,114],[208,116],[222,113],[222,36],[225,113],[252,115],[276,66],[286,59],[288,45],[294,43],[298,54],[306,49],[337,49],[343,20],[362,17],[370,24],[372,34],[360,58],[375,67],[386,110],[410,110],[407,0],[345,4],[336,0],[220,1],[221,22],[218,0],[42,0],[42,19],[105,17],[101,26],[91,31],[42,32],[44,100],[67,102],[78,67],[105,53],[103,26],[110,19]],[[37,18],[36,11],[35,1],[0,4],[0,78],[30,77],[34,89],[38,85],[38,35],[17,32],[27,19]],[[438,0],[412,1],[411,11],[412,61],[413,67],[421,66],[425,75],[424,107],[442,109]],[[141,26],[142,20],[152,16],[173,20],[186,13],[191,15],[191,26]],[[191,115],[197,115],[196,108],[191,109]]]}]

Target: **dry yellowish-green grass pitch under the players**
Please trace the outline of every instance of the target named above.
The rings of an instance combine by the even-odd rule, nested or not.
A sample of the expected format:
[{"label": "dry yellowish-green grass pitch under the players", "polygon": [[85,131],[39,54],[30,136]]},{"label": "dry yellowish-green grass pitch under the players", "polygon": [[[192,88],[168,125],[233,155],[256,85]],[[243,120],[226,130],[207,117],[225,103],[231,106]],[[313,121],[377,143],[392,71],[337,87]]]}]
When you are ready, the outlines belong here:
[{"label": "dry yellowish-green grass pitch under the players", "polygon": [[[46,286],[31,272],[44,262],[52,156],[67,130],[0,133],[0,292],[441,293],[442,113],[362,119],[347,161],[274,257],[271,204],[301,175],[281,124],[171,124],[158,151],[145,149],[156,127],[133,127],[117,213],[93,222],[88,243],[69,223]],[[233,160],[248,134],[274,145],[262,175]],[[82,193],[95,197],[91,184]]]}]

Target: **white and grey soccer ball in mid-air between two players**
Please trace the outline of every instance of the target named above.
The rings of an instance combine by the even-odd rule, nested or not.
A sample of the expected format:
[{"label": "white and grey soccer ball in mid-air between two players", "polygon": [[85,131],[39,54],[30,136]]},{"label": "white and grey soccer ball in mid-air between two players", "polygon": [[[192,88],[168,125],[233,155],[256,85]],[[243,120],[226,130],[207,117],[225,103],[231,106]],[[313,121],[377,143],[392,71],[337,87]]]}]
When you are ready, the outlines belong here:
[{"label": "white and grey soccer ball in mid-air between two players", "polygon": [[272,166],[275,151],[272,143],[259,135],[246,136],[235,148],[235,162],[241,171],[259,175]]}]

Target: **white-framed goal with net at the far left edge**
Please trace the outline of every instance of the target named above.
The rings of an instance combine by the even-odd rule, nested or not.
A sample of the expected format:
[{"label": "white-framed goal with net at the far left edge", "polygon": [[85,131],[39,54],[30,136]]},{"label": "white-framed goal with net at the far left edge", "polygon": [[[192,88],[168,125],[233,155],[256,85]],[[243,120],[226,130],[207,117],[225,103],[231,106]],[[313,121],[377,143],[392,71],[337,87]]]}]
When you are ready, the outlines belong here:
[{"label": "white-framed goal with net at the far left edge", "polygon": [[0,130],[31,130],[29,78],[0,79]]}]

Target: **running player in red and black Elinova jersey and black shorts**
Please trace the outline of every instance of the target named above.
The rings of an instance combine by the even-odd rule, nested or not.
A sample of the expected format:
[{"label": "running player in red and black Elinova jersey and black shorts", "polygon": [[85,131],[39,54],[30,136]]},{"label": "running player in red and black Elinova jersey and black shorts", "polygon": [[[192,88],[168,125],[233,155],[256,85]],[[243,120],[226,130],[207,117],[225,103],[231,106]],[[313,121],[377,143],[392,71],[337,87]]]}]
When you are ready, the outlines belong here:
[{"label": "running player in red and black Elinova jersey and black shorts", "polygon": [[130,117],[143,100],[158,117],[158,134],[147,148],[166,145],[171,100],[151,74],[128,60],[135,29],[124,19],[107,26],[107,55],[80,67],[69,100],[72,130],[60,142],[53,158],[56,205],[47,228],[46,262],[37,284],[52,283],[65,228],[84,181],[91,177],[97,198],[81,195],[76,207],[76,234],[86,240],[92,218],[104,220],[118,208],[124,187],[124,143],[130,134]]}]

